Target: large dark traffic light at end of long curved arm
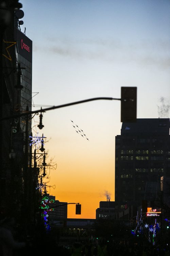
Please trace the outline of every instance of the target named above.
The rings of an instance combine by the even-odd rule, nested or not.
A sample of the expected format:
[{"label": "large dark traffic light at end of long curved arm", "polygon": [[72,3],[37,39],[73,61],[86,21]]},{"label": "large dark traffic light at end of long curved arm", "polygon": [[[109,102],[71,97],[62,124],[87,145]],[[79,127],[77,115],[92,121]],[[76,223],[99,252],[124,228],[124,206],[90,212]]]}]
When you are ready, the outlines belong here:
[{"label": "large dark traffic light at end of long curved arm", "polygon": [[136,122],[137,87],[121,87],[121,122]]}]

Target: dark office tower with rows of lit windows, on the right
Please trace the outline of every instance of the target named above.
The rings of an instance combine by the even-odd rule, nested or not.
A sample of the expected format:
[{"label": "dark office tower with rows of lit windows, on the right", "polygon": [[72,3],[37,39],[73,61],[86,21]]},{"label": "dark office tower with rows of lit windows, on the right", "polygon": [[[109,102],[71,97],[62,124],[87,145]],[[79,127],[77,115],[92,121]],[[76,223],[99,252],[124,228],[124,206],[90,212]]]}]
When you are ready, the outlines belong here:
[{"label": "dark office tower with rows of lit windows, on the right", "polygon": [[[161,177],[170,177],[170,120],[142,118],[122,123],[115,142],[115,204],[135,215],[143,200],[160,194]],[[136,208],[136,209],[135,209]]]}]

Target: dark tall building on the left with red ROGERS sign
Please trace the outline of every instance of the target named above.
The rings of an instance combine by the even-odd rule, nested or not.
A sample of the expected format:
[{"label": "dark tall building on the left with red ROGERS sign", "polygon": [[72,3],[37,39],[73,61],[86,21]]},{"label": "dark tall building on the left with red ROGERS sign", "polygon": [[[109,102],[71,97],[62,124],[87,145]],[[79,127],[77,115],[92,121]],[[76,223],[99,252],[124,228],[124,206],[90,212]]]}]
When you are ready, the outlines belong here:
[{"label": "dark tall building on the left with red ROGERS sign", "polygon": [[6,0],[0,10],[0,207],[4,215],[27,219],[33,200],[31,115],[26,115],[32,106],[32,41],[21,32],[20,6]]}]

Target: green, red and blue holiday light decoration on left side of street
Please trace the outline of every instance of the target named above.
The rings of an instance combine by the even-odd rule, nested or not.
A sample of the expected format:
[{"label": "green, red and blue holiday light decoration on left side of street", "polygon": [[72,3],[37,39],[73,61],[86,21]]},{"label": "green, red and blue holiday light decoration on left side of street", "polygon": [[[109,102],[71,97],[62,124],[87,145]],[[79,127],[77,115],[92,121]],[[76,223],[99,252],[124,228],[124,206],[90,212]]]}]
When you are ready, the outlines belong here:
[{"label": "green, red and blue holiday light decoration on left side of street", "polygon": [[44,225],[46,228],[46,231],[48,232],[50,230],[50,225],[48,223],[48,212],[54,211],[54,208],[50,208],[49,204],[54,203],[54,200],[49,200],[48,196],[44,196],[41,200],[40,209],[43,211],[41,213],[41,217],[44,219]]}]

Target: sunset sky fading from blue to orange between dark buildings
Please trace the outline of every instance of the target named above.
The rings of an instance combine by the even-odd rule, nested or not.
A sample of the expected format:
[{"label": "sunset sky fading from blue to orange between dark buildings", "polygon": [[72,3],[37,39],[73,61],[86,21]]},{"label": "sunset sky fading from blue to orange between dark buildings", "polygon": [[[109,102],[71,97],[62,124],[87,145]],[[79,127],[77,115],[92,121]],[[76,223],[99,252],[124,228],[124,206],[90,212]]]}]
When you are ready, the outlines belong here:
[{"label": "sunset sky fading from blue to orange between dark buildings", "polygon": [[[33,111],[120,98],[121,86],[136,86],[137,118],[170,117],[169,0],[19,2],[21,31],[26,28],[33,41]],[[54,165],[44,179],[48,192],[61,202],[82,205],[81,215],[68,205],[68,218],[95,219],[100,201],[107,195],[114,201],[120,101],[47,111],[42,130],[38,119],[33,118],[33,135],[47,137],[47,162],[52,159]]]}]

